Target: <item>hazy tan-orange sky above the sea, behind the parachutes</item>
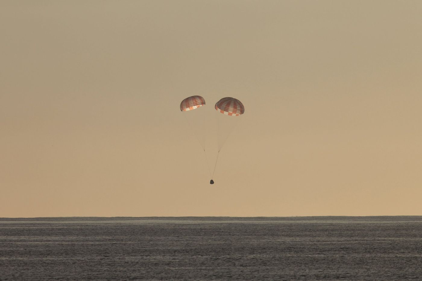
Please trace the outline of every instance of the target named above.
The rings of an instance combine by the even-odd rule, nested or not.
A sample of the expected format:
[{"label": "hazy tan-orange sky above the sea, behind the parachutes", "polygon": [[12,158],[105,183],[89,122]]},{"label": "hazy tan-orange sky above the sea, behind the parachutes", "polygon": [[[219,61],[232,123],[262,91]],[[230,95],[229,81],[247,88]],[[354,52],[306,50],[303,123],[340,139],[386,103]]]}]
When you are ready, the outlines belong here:
[{"label": "hazy tan-orange sky above the sea, behind the parachutes", "polygon": [[[0,217],[422,215],[421,14],[0,0]],[[215,111],[222,97],[245,113]]]}]

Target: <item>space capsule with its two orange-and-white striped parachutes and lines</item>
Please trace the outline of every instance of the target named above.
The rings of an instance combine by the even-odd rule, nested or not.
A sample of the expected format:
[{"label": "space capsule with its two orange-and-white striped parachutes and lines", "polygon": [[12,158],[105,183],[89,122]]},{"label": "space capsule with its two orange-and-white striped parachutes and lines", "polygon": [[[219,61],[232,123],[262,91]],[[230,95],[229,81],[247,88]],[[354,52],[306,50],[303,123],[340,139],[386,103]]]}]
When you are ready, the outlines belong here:
[{"label": "space capsule with its two orange-and-white striped parachutes and lines", "polygon": [[[191,96],[191,97],[187,97],[184,100],[181,101],[180,103],[180,111],[193,111],[203,105],[205,105],[205,99],[201,96]],[[245,107],[243,106],[243,104],[241,103],[240,100],[235,99],[233,97],[223,97],[221,100],[219,100],[216,104],[215,104],[215,109],[216,111],[225,114],[226,116],[240,116],[241,114],[243,114],[245,112]],[[196,112],[196,111],[195,111]],[[200,113],[204,113],[204,112],[200,112]],[[221,120],[218,122],[218,152],[217,152],[217,157],[215,160],[215,165],[214,165],[214,170],[213,173],[211,174],[211,169],[210,169],[210,164],[208,162],[208,158],[207,158],[207,154],[205,151],[205,140],[203,139],[201,141],[201,138],[197,135],[198,134],[198,127],[202,127],[202,126],[198,126],[198,125],[193,125],[192,121],[195,122],[201,122],[201,118],[198,118],[199,115],[191,115],[190,113],[187,115],[191,115],[189,116],[191,119],[189,120],[187,118],[187,116],[185,115],[186,113],[184,113],[183,115],[186,117],[186,120],[188,121],[188,123],[190,123],[191,127],[192,127],[192,132],[195,134],[195,136],[197,137],[200,145],[203,148],[206,160],[207,160],[207,164],[208,164],[208,171],[210,173],[211,176],[211,181],[210,184],[214,184],[214,173],[215,173],[215,169],[217,166],[217,161],[218,161],[218,156],[220,153],[220,150],[222,149],[222,146],[224,145],[225,141],[227,140],[228,136],[230,135],[230,133],[233,131],[233,122],[235,121],[234,119],[238,119],[238,118],[234,118],[233,120],[228,120],[228,119],[232,119],[232,118],[227,118],[225,120]],[[219,118],[217,118],[217,120],[219,120]],[[203,121],[203,119],[202,119]],[[220,124],[221,123],[221,124]],[[223,130],[225,129],[225,130]]]}]

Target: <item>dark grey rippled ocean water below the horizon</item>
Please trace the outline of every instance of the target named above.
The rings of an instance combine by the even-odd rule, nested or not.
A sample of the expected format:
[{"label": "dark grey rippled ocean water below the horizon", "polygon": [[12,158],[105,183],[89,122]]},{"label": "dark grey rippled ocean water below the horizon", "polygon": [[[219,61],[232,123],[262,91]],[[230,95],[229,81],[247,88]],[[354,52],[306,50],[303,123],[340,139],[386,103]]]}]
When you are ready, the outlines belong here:
[{"label": "dark grey rippled ocean water below the horizon", "polygon": [[0,218],[0,280],[422,280],[422,216]]}]

